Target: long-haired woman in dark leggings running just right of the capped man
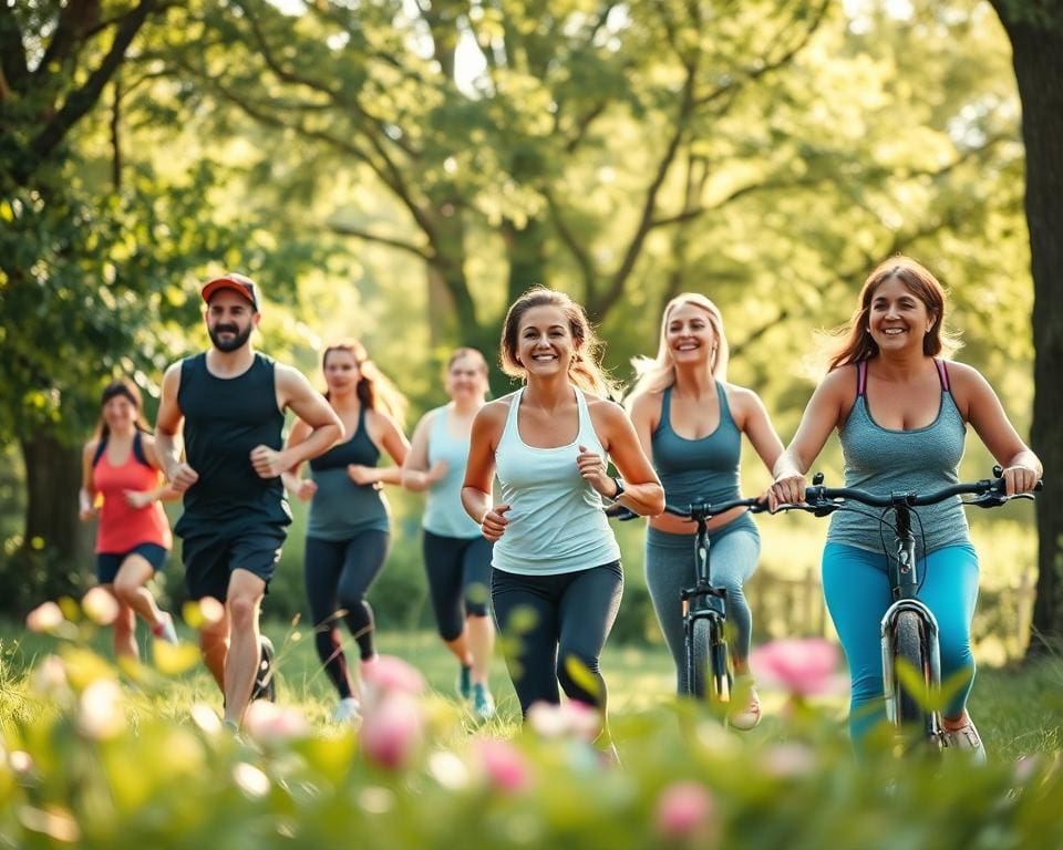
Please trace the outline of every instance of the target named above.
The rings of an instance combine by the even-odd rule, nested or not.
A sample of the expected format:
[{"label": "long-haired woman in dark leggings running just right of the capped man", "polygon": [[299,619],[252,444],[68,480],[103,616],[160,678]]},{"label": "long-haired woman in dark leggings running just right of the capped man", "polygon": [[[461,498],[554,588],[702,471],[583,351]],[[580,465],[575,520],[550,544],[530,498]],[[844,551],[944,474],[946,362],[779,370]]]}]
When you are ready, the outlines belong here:
[{"label": "long-haired woman in dark leggings running just right of the capped man", "polygon": [[[399,425],[405,400],[361,343],[329,345],[321,371],[326,398],[351,436],[313,458],[308,479],[299,477],[298,466],[290,469],[285,486],[310,501],[303,570],[314,644],[340,697],[333,718],[350,721],[359,716],[359,702],[340,642],[339,612],[358,643],[364,668],[376,659],[373,610],[365,592],[383,568],[391,543],[391,518],[381,488],[401,483],[410,444]],[[297,421],[288,445],[298,445],[306,434],[306,425]],[[376,466],[381,449],[393,466]]]}]

